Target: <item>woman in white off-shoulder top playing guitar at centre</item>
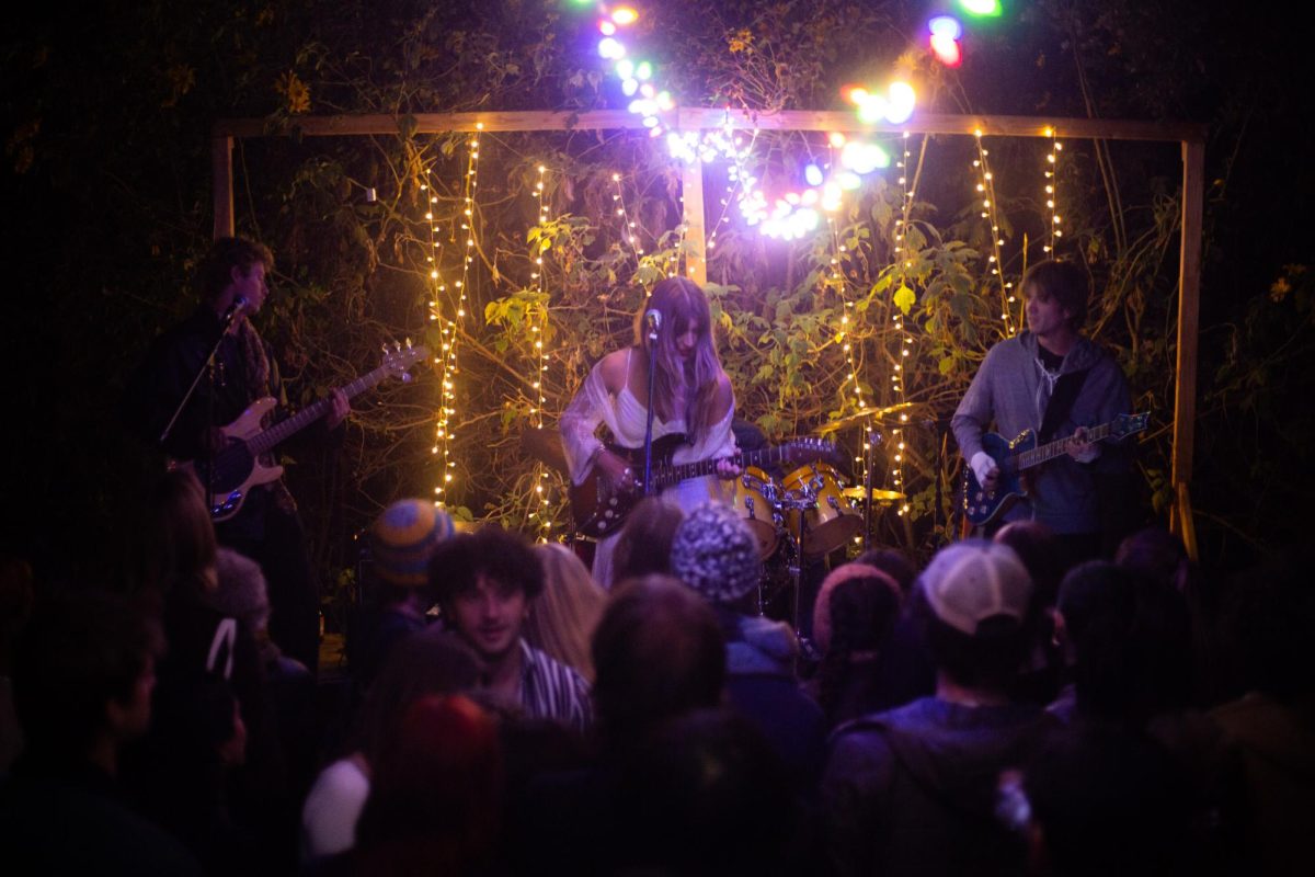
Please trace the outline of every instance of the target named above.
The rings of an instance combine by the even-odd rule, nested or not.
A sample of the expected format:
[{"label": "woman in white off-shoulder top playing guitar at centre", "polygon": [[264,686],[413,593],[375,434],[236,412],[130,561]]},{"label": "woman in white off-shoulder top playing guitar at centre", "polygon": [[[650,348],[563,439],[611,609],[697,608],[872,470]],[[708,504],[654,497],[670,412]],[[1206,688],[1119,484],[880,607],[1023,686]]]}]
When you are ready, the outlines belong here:
[{"label": "woman in white off-shoulder top playing guitar at centre", "polygon": [[[656,322],[658,341],[650,342]],[[650,368],[654,369],[654,398],[648,398]],[[643,447],[648,405],[654,406],[654,442],[665,435],[685,435],[673,463],[697,463],[736,452],[731,421],[735,393],[722,369],[713,343],[711,314],[698,284],[684,277],[658,283],[635,314],[635,342],[615,350],[594,364],[562,414],[562,446],[571,480],[581,484],[590,472],[608,486],[642,490]],[[636,448],[638,465],[609,451],[596,431],[606,425],[611,442]],[[658,458],[654,458],[654,467]],[[739,475],[739,467],[722,462],[717,477],[682,481],[664,496],[684,510],[709,498],[731,501],[734,490],[726,479]],[[593,560],[594,580],[611,586],[611,548],[615,534],[598,540]]]}]

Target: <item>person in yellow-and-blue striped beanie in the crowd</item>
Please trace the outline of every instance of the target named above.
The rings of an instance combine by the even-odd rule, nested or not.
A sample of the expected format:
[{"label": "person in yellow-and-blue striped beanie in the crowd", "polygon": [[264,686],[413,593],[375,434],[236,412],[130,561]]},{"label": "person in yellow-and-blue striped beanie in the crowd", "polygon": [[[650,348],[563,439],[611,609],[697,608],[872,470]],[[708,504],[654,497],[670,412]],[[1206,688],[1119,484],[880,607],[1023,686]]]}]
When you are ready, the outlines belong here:
[{"label": "person in yellow-and-blue striped beanie in the crowd", "polygon": [[427,626],[426,611],[434,604],[429,561],[455,533],[452,517],[426,500],[398,500],[370,526],[375,611],[362,623],[362,646],[351,655],[358,690],[370,688],[393,646]]}]

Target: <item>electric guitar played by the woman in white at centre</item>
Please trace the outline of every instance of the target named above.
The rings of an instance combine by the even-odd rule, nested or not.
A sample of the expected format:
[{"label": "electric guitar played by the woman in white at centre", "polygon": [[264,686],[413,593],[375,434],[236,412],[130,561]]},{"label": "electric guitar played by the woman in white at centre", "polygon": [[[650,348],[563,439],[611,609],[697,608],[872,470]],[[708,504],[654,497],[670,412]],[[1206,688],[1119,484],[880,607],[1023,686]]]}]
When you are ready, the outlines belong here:
[{"label": "electric guitar played by the woman in white at centre", "polygon": [[[811,463],[822,458],[835,456],[835,444],[822,439],[794,439],[777,447],[765,447],[757,451],[740,451],[732,456],[714,460],[700,460],[697,463],[675,464],[671,462],[672,454],[685,444],[685,437],[680,434],[664,435],[654,442],[654,468],[652,492],[660,493],[663,488],[680,484],[688,479],[697,479],[704,475],[717,475],[717,464],[721,460],[731,460],[746,468],[750,465],[763,467],[773,463]],[[644,450],[606,446],[617,456],[625,458],[636,477],[643,477]],[[625,522],[626,515],[643,498],[642,489],[609,489],[604,486],[604,479],[598,476],[594,467],[580,484],[575,484],[568,490],[571,498],[571,515],[575,518],[576,531],[596,539],[610,535]]]}]

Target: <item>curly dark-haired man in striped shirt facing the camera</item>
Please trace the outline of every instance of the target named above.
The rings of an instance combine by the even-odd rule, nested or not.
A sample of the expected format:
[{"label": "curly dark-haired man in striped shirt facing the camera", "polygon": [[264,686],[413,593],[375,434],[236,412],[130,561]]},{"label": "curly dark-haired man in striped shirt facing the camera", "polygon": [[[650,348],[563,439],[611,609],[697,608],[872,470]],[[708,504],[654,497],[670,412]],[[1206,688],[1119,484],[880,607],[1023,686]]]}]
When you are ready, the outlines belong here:
[{"label": "curly dark-haired man in striped shirt facing the camera", "polygon": [[523,536],[498,526],[448,539],[429,567],[447,627],[480,656],[488,689],[533,717],[589,727],[589,684],[525,642],[525,622],[543,593],[543,564]]}]

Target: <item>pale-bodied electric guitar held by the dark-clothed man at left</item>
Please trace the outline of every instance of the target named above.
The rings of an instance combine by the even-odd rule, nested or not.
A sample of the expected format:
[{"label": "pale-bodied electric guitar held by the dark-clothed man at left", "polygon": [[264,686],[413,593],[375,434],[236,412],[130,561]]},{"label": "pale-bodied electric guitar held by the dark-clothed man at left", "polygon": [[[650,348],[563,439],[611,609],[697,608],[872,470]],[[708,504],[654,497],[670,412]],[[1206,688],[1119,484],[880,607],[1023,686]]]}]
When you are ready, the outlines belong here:
[{"label": "pale-bodied electric guitar held by the dark-clothed man at left", "polygon": [[[384,362],[375,371],[363,375],[341,389],[351,398],[391,375],[410,380],[406,369],[429,356],[425,347],[393,344],[384,347]],[[272,396],[258,398],[242,414],[220,430],[222,447],[210,460],[174,462],[170,468],[189,468],[206,489],[210,505],[210,518],[216,522],[227,521],[235,515],[246,501],[251,488],[268,484],[283,476],[283,467],[275,464],[270,451],[276,444],[292,438],[305,427],[333,410],[333,400],[322,398],[308,405],[292,417],[270,425],[270,414],[277,401]]]}]

